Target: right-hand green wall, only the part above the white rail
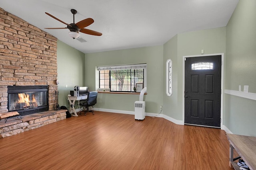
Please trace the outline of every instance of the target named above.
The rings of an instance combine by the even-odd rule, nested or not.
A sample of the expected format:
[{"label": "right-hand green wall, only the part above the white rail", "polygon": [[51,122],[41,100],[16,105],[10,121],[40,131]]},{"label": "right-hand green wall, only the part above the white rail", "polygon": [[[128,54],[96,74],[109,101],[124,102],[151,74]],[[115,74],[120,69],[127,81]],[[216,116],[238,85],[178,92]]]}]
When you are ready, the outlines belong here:
[{"label": "right-hand green wall, only the part above the white rail", "polygon": [[240,1],[227,29],[226,89],[238,90],[249,85],[256,93],[256,1]]}]

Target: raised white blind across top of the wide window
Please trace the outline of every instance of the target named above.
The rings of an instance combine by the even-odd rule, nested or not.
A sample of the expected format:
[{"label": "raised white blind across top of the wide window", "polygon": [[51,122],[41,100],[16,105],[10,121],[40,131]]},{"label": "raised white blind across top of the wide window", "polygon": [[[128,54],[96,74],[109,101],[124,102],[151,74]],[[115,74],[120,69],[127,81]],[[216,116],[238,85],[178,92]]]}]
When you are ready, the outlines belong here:
[{"label": "raised white blind across top of the wide window", "polygon": [[145,69],[147,64],[126,64],[126,65],[113,65],[113,66],[98,66],[98,71],[101,70],[127,70],[127,69]]}]

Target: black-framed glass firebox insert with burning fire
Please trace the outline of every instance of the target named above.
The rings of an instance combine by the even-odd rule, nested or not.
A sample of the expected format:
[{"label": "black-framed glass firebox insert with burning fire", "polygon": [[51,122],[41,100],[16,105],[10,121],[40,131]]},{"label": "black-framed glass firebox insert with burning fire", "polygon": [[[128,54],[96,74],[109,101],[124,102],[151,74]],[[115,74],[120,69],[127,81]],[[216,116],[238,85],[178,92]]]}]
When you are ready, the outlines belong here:
[{"label": "black-framed glass firebox insert with burning fire", "polygon": [[8,110],[28,115],[47,111],[48,86],[8,86]]}]

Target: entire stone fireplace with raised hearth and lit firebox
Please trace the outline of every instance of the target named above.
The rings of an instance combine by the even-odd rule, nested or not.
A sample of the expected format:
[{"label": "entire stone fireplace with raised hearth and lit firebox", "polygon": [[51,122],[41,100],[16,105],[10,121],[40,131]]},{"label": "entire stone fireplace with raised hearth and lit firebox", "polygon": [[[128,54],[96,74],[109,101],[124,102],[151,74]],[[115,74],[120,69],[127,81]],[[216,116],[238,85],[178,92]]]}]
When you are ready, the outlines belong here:
[{"label": "entire stone fireplace with raised hearth and lit firebox", "polygon": [[22,115],[0,121],[0,138],[66,119],[54,110],[57,75],[57,38],[0,8],[0,113]]}]

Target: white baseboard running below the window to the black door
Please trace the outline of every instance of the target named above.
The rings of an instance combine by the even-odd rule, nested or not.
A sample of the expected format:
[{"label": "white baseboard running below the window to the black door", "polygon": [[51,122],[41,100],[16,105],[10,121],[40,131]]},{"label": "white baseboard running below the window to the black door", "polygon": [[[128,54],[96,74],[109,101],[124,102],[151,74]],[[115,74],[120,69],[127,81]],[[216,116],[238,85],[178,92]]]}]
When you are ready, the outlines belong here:
[{"label": "white baseboard running below the window to the black door", "polygon": [[[93,108],[95,111],[106,111],[106,112],[112,112],[112,113],[122,113],[122,114],[129,114],[134,115],[134,111],[125,111],[125,110],[114,110],[114,109],[101,109],[101,108]],[[172,117],[169,117],[164,114],[157,114],[157,113],[145,113],[146,116],[155,116],[155,117],[162,117],[168,121],[171,121],[172,123],[175,123],[177,125],[184,125],[183,121],[173,119]]]}]

